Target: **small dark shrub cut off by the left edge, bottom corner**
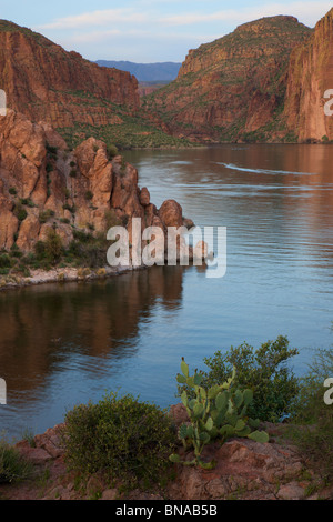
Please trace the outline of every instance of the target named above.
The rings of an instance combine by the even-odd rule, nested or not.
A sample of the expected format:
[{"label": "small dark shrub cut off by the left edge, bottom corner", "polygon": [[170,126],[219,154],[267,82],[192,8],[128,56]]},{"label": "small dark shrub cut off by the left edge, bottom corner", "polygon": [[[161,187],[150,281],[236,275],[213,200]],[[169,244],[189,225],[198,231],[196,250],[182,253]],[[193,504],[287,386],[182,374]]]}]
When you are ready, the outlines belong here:
[{"label": "small dark shrub cut off by the left edge, bottom corner", "polygon": [[32,471],[19,450],[6,441],[0,441],[0,483],[18,482],[27,479]]}]

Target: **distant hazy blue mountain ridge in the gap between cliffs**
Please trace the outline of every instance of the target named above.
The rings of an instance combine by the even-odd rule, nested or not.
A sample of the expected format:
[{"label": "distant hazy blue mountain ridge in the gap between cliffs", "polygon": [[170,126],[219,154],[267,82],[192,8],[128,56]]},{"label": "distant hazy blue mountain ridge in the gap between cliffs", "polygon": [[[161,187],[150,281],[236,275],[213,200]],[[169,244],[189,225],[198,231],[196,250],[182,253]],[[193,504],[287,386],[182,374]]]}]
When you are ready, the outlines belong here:
[{"label": "distant hazy blue mountain ridge in the gap between cliffs", "polygon": [[134,63],[131,61],[98,60],[101,67],[115,68],[133,74],[140,82],[167,82],[173,81],[178,77],[181,63],[157,62],[157,63]]}]

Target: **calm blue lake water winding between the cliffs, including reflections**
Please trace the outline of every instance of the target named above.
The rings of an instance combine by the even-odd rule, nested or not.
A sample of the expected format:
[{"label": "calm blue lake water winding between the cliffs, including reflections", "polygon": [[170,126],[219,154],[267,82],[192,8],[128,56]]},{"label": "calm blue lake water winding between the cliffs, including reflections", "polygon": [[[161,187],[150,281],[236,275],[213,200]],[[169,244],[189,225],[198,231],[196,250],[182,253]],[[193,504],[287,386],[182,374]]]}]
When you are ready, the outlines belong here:
[{"label": "calm blue lake water winding between the cliffs, including reflections", "polygon": [[77,403],[120,389],[176,402],[181,357],[204,357],[279,334],[301,354],[333,334],[333,148],[222,145],[131,151],[158,207],[175,199],[195,224],[228,230],[228,270],[165,267],[94,283],[0,293],[0,430],[20,438],[63,420]]}]

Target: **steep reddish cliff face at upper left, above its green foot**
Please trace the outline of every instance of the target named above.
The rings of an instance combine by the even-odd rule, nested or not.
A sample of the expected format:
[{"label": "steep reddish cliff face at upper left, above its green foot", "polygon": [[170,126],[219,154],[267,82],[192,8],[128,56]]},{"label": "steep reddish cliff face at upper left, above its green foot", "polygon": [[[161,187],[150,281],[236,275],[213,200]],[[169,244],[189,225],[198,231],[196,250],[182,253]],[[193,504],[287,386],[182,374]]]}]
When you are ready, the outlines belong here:
[{"label": "steep reddish cliff face at upper left, above its green foot", "polygon": [[8,106],[54,128],[117,121],[114,104],[139,108],[138,81],[99,67],[29,29],[0,21],[0,78]]}]

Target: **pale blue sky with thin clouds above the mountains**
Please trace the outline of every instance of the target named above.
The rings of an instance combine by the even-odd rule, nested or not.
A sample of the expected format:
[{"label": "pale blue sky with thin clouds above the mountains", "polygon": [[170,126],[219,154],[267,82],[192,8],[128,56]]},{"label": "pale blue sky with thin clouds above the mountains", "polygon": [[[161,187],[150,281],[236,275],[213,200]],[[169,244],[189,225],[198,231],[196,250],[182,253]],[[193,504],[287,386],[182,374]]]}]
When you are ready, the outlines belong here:
[{"label": "pale blue sky with thin clouds above the mountains", "polygon": [[89,60],[150,63],[182,62],[189,49],[262,17],[290,14],[314,27],[332,7],[333,0],[0,0],[0,18]]}]

